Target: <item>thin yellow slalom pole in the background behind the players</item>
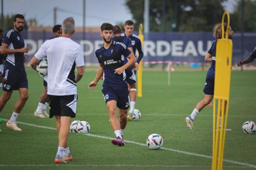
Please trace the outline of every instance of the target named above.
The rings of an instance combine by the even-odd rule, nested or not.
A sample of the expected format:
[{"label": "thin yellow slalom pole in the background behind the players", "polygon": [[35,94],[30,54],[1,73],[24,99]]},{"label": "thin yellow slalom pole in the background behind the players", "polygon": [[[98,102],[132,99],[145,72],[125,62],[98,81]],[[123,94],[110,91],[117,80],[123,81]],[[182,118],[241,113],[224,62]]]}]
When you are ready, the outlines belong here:
[{"label": "thin yellow slalom pole in the background behind the players", "polygon": [[[142,47],[142,50],[143,50],[143,43],[144,43],[144,36],[142,35],[142,30],[143,30],[143,25],[142,23],[140,24],[140,27],[139,27],[139,35],[138,37],[140,38],[140,41],[141,41],[141,47]],[[135,53],[135,52],[134,52]],[[139,56],[139,55],[137,55]],[[137,93],[137,96],[138,97],[142,97],[142,68],[143,67],[143,59],[140,61],[140,64],[139,64],[139,70],[137,72],[137,89],[138,89],[138,93]]]}]

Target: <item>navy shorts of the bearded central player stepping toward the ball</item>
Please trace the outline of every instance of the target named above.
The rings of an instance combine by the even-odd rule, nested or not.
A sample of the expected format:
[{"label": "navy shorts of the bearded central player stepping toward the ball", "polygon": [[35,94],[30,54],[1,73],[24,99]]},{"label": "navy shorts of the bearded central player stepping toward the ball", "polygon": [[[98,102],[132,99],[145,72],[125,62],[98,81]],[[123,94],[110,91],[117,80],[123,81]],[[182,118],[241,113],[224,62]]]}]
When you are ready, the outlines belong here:
[{"label": "navy shorts of the bearded central player stepping toward the ball", "polygon": [[129,108],[130,97],[127,84],[122,87],[102,86],[102,93],[106,103],[110,100],[116,100],[118,108]]}]

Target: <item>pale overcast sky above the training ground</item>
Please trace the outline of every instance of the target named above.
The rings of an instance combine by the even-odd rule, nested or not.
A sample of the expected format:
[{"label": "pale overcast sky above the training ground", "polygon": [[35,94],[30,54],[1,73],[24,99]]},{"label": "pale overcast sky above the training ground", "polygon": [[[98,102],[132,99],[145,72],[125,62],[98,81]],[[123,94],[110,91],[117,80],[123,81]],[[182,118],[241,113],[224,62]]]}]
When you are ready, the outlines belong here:
[{"label": "pale overcast sky above the training ground", "polygon": [[[53,8],[57,7],[57,24],[73,16],[76,26],[83,25],[83,0],[3,0],[4,15],[25,14],[25,19],[37,20],[37,25],[52,26]],[[103,22],[116,24],[132,19],[125,0],[85,0],[85,25],[99,27]],[[149,0],[150,1],[150,0]],[[155,1],[155,0],[151,0]],[[223,4],[229,12],[234,11],[236,0],[228,0]]]}]

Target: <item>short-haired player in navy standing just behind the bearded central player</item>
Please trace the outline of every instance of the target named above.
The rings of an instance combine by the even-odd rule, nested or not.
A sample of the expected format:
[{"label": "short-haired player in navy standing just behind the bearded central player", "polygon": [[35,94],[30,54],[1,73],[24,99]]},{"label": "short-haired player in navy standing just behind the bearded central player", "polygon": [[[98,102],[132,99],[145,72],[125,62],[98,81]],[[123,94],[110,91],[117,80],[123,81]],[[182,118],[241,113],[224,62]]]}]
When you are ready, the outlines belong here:
[{"label": "short-haired player in navy standing just behind the bearded central player", "polygon": [[130,111],[128,113],[128,120],[132,121],[132,115],[133,115],[133,109],[135,107],[135,101],[136,101],[136,71],[139,69],[139,63],[143,57],[143,52],[141,48],[141,41],[138,36],[134,35],[133,30],[134,30],[134,23],[131,20],[125,21],[124,24],[124,33],[122,36],[129,37],[132,42],[132,48],[133,52],[135,54],[136,49],[139,52],[139,56],[137,58],[137,62],[131,66],[129,69],[125,70],[126,76],[127,76],[127,82],[129,84],[129,89],[130,89]]}]

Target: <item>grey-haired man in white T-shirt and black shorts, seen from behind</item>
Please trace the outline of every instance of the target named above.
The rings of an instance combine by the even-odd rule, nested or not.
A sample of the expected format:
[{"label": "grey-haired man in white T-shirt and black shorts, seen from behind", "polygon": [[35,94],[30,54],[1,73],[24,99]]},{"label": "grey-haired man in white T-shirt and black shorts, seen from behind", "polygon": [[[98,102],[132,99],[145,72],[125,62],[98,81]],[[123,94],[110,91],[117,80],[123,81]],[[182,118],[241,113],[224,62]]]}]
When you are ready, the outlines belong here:
[{"label": "grey-haired man in white T-shirt and black shorts, seen from behind", "polygon": [[50,118],[55,116],[59,139],[58,151],[54,159],[57,164],[73,160],[68,147],[69,124],[70,118],[76,116],[76,83],[81,80],[84,73],[82,47],[71,40],[75,32],[74,19],[66,18],[61,28],[62,36],[45,41],[30,61],[31,67],[36,69],[36,63],[47,57]]}]

